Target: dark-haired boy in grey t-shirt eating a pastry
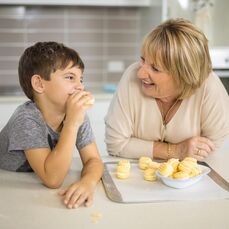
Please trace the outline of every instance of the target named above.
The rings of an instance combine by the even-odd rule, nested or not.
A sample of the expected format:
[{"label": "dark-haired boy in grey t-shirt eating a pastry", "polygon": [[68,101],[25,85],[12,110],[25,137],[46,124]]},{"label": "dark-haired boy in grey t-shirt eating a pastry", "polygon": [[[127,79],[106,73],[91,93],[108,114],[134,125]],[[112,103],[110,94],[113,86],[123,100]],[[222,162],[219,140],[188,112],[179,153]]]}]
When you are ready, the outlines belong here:
[{"label": "dark-haired boy in grey t-shirt eating a pastry", "polygon": [[38,42],[27,48],[18,73],[30,101],[0,132],[0,168],[34,171],[49,188],[62,184],[77,146],[84,165],[81,179],[59,193],[68,208],[92,204],[103,171],[85,114],[93,97],[84,91],[83,70],[78,53],[63,44]]}]

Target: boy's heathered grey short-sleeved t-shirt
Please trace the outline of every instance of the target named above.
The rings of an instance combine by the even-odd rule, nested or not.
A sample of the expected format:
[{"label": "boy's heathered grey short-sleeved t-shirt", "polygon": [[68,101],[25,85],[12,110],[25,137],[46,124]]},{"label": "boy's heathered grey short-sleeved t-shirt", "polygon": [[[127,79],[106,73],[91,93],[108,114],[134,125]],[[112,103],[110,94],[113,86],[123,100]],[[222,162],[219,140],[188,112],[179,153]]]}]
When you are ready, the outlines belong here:
[{"label": "boy's heathered grey short-sleeved t-shirt", "polygon": [[[54,132],[44,121],[40,110],[32,101],[20,105],[0,132],[0,168],[11,171],[32,171],[24,150],[32,148],[53,149],[59,133]],[[76,147],[81,150],[94,141],[88,116],[80,126]]]}]

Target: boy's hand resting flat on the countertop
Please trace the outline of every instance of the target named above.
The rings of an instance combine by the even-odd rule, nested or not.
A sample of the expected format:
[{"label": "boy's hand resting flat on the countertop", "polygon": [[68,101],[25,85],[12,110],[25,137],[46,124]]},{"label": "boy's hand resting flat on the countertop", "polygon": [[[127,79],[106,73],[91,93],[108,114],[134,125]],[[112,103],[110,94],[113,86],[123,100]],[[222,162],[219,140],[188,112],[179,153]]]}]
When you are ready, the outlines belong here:
[{"label": "boy's hand resting flat on the countertop", "polygon": [[89,207],[93,202],[95,187],[96,184],[81,179],[79,182],[59,191],[58,194],[65,197],[64,204],[67,208],[78,208],[82,204]]}]

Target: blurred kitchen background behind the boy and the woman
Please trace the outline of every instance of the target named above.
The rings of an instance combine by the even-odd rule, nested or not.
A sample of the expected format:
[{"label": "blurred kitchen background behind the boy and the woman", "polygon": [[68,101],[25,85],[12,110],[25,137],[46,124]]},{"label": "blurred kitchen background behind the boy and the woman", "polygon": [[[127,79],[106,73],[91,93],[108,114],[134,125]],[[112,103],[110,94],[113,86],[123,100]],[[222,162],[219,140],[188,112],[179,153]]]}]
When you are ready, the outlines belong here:
[{"label": "blurred kitchen background behind the boy and the woman", "polygon": [[23,50],[37,41],[63,42],[86,64],[84,83],[96,96],[88,113],[106,154],[110,92],[139,60],[144,35],[171,17],[190,19],[205,32],[214,70],[229,91],[228,9],[227,0],[0,0],[0,129],[26,99],[17,75]]}]

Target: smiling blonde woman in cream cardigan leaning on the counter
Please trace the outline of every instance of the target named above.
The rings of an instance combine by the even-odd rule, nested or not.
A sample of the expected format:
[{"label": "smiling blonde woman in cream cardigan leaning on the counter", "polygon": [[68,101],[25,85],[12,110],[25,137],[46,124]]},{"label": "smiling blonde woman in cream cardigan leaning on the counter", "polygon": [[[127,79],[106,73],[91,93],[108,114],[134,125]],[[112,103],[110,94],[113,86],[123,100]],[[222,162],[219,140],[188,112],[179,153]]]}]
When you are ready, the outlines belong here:
[{"label": "smiling blonde woman in cream cardigan leaning on the counter", "polygon": [[229,100],[212,72],[205,35],[168,20],[144,39],[124,73],[106,122],[109,154],[204,160],[229,134]]}]

